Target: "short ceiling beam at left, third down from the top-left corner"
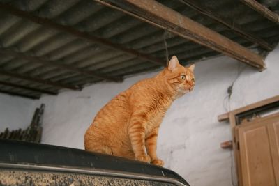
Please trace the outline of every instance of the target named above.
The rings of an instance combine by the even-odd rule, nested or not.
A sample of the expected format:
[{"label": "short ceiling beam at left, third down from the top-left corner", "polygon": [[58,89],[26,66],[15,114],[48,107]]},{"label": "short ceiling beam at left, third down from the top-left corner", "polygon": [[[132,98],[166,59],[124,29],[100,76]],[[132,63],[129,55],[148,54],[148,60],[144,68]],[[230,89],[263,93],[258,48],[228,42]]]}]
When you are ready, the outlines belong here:
[{"label": "short ceiling beam at left, third down from the top-left corner", "polygon": [[39,83],[39,84],[46,84],[46,85],[50,85],[50,86],[54,86],[54,87],[58,87],[58,88],[67,88],[67,89],[70,89],[70,90],[80,90],[80,88],[77,87],[77,86],[71,86],[71,85],[67,85],[67,84],[59,84],[58,82],[52,82],[52,81],[47,80],[47,79],[38,79],[36,77],[30,77],[30,76],[27,76],[27,75],[20,75],[20,74],[17,74],[15,72],[8,72],[6,70],[1,70],[1,69],[0,69],[0,75],[15,77],[17,79],[24,79],[24,80],[27,80],[29,82],[36,82],[36,83]]}]

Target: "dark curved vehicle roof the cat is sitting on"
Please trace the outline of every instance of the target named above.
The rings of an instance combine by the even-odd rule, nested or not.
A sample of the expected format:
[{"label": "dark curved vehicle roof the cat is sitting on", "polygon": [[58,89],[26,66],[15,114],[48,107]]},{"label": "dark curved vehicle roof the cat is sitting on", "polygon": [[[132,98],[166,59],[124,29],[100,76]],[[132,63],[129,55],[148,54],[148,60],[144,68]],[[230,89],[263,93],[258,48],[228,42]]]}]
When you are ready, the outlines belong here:
[{"label": "dark curved vehicle roof the cat is sitting on", "polygon": [[[127,160],[121,157],[101,155],[85,150],[31,144],[22,141],[0,140],[1,169],[10,169],[22,164],[21,169],[40,169],[40,171],[70,171],[77,173],[96,173],[105,175],[112,173],[112,177],[142,178],[152,177],[155,180],[174,180],[174,182],[188,185],[186,180],[177,173],[151,164]],[[24,168],[25,167],[25,168]],[[29,168],[28,168],[29,167]],[[37,167],[37,168],[36,168]],[[19,169],[20,167],[18,167]],[[126,176],[125,176],[126,175]]]}]

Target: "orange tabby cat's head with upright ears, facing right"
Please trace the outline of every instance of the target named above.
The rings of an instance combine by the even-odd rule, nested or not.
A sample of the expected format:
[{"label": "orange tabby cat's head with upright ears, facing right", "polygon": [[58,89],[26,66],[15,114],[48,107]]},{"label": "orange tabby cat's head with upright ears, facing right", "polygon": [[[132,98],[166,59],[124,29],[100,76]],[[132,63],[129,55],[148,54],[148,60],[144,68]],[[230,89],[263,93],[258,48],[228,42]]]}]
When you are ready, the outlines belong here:
[{"label": "orange tabby cat's head with upright ears, facing right", "polygon": [[195,86],[195,65],[184,67],[179,64],[176,56],[172,56],[166,68],[167,83],[174,89],[177,97],[192,91]]}]

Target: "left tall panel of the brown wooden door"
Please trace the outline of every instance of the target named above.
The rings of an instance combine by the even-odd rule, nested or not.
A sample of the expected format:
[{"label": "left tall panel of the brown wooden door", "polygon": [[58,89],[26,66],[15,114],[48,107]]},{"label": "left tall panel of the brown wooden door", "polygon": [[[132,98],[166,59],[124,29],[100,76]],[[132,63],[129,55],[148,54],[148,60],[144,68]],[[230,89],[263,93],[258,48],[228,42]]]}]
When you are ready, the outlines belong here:
[{"label": "left tall panel of the brown wooden door", "polygon": [[276,186],[267,124],[239,127],[243,185]]}]

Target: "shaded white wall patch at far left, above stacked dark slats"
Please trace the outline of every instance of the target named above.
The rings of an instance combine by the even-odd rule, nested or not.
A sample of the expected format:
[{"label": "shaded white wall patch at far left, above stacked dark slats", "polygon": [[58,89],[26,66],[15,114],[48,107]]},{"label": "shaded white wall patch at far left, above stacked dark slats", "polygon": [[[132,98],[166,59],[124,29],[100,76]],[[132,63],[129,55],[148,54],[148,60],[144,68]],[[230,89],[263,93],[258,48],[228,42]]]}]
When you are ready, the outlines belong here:
[{"label": "shaded white wall patch at far left, above stacked dark slats", "polygon": [[0,132],[25,129],[30,125],[35,111],[35,101],[0,93]]}]

